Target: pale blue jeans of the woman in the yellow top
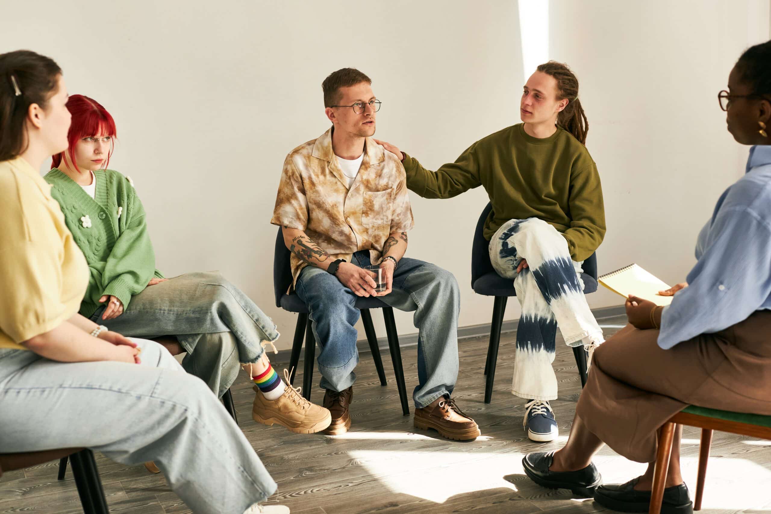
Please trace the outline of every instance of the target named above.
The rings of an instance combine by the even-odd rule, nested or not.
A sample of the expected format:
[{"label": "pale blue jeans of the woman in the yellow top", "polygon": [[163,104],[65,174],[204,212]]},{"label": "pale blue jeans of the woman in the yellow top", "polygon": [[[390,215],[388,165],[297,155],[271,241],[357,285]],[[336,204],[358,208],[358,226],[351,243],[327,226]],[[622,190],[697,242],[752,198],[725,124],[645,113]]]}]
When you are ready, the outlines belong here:
[{"label": "pale blue jeans of the woman in the yellow top", "polygon": [[141,365],[0,349],[0,453],[86,447],[154,461],[196,513],[241,514],[271,496],[276,483],[204,382],[160,344],[134,341]]}]

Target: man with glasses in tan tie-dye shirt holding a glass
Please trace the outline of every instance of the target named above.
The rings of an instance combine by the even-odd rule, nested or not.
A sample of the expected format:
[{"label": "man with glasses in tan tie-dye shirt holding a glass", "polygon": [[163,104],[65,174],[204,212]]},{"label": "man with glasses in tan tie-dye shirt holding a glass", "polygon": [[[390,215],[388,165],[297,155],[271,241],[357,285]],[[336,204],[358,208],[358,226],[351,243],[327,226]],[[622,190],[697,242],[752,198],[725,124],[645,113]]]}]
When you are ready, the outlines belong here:
[{"label": "man with glasses in tan tie-dye shirt holding a glass", "polygon": [[[377,297],[415,311],[418,385],[415,425],[468,440],[479,428],[450,398],[458,375],[458,284],[449,271],[403,257],[412,208],[402,163],[372,140],[381,102],[357,69],[333,72],[323,84],[332,127],[284,161],[271,223],[291,251],[298,296],[310,311],[322,348],[318,369],[330,435],[348,432],[353,372],[359,362],[357,297]],[[375,265],[375,272],[366,270]],[[377,282],[375,278],[382,277]]]}]

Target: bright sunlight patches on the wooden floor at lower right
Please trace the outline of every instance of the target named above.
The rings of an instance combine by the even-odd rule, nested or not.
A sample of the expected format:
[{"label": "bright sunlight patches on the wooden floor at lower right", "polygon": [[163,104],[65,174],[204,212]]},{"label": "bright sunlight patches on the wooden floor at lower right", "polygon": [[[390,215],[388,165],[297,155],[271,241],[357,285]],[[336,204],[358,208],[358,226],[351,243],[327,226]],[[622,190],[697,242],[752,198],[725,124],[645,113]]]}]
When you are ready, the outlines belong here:
[{"label": "bright sunlight patches on the wooden floor at lower right", "polygon": [[[372,438],[372,435],[377,434],[369,432],[366,435]],[[698,443],[695,439],[685,441],[688,444]],[[436,503],[444,503],[451,496],[488,489],[510,489],[517,492],[517,486],[504,477],[524,475],[521,462],[523,454],[519,452],[362,450],[350,452],[349,455],[359,461],[371,475],[378,477],[392,492]],[[692,494],[696,485],[698,460],[696,457],[682,459],[683,475]],[[600,456],[595,463],[600,468],[605,483],[626,482],[645,470],[645,465],[629,462],[618,455]],[[754,484],[742,481],[742,476],[746,475],[755,477],[752,481]],[[744,459],[713,457],[709,461],[703,507],[759,509],[767,506],[769,499],[765,490],[757,488],[758,479],[771,480],[771,471]],[[530,489],[531,484],[527,483],[527,487]]]}]

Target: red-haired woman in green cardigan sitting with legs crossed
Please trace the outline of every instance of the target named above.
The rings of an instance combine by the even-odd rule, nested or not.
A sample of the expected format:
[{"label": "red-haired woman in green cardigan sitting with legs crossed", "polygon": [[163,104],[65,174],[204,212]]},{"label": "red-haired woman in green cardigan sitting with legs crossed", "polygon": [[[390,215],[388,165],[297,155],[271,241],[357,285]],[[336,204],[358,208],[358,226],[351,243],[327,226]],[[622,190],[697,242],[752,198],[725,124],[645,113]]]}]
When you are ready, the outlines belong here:
[{"label": "red-haired woman in green cardigan sitting with legs crossed", "polygon": [[241,363],[254,380],[257,422],[301,433],[327,428],[329,411],[305,400],[271,367],[264,346],[278,332],[246,294],[217,273],[167,279],[156,269],[133,182],[106,169],[117,133],[113,116],[82,95],[70,96],[67,108],[69,148],[53,157],[45,180],[89,264],[80,314],[131,337],[176,336],[187,351],[183,368],[218,397],[231,387]]}]

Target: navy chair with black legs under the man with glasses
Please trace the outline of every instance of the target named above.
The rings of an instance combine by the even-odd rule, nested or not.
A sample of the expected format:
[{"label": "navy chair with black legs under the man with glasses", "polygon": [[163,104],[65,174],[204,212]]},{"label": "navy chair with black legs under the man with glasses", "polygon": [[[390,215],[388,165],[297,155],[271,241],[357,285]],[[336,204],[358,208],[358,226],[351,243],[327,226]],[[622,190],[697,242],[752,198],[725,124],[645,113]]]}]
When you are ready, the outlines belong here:
[{"label": "navy chair with black legs under the man with glasses", "polygon": [[[281,234],[281,228],[278,229],[276,236],[276,250],[273,259],[273,287],[276,296],[276,307],[281,307],[284,311],[295,312],[298,314],[297,326],[295,327],[295,340],[291,346],[291,357],[289,358],[289,369],[291,369],[290,381],[295,381],[295,371],[300,360],[300,350],[302,341],[305,337],[305,368],[302,374],[302,393],[306,399],[311,399],[311,387],[313,380],[313,361],[315,359],[316,339],[311,329],[311,320],[308,319],[308,307],[298,297],[295,292],[288,294],[291,285],[291,267],[289,265],[290,253],[284,244],[284,236]],[[382,309],[385,319],[385,334],[388,336],[389,349],[391,351],[391,360],[393,361],[393,372],[396,375],[396,387],[399,388],[399,399],[402,401],[402,412],[409,415],[409,405],[407,404],[407,390],[404,385],[404,371],[402,370],[402,352],[399,350],[399,337],[396,334],[396,321],[393,317],[393,309],[384,304],[377,298],[359,297],[356,299],[356,308],[362,311],[362,323],[364,331],[367,334],[369,349],[372,351],[372,358],[375,360],[375,368],[378,370],[380,385],[385,385],[385,371],[380,358],[380,349],[378,348],[378,338],[375,335],[375,327],[372,325],[372,315],[370,309]]]}]

